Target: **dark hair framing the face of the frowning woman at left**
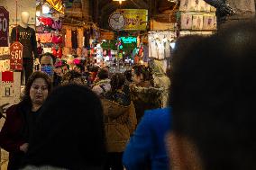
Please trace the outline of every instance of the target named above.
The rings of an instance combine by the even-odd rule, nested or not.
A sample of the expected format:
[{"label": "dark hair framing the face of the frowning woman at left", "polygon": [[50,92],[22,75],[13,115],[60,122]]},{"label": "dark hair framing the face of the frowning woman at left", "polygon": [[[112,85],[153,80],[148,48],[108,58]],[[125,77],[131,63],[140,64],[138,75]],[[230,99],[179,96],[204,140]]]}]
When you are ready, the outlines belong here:
[{"label": "dark hair framing the face of the frowning woman at left", "polygon": [[52,79],[46,73],[41,72],[41,71],[36,71],[36,72],[33,72],[32,75],[28,78],[28,81],[25,85],[24,94],[23,94],[23,100],[24,101],[31,102],[30,90],[31,90],[31,87],[32,87],[32,83],[37,78],[42,78],[42,79],[45,80],[45,82],[48,86],[48,91],[50,93],[51,88],[52,88]]}]

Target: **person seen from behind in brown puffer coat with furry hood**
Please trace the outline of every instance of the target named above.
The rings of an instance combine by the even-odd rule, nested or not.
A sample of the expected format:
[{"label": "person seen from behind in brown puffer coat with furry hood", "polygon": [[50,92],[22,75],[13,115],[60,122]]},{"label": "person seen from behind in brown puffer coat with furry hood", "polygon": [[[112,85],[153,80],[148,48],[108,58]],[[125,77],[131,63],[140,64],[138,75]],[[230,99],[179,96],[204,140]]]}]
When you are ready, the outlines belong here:
[{"label": "person seen from behind in brown puffer coat with furry hood", "polygon": [[123,93],[124,82],[123,74],[114,74],[111,91],[102,99],[107,148],[105,170],[123,170],[123,151],[137,124],[133,102]]}]

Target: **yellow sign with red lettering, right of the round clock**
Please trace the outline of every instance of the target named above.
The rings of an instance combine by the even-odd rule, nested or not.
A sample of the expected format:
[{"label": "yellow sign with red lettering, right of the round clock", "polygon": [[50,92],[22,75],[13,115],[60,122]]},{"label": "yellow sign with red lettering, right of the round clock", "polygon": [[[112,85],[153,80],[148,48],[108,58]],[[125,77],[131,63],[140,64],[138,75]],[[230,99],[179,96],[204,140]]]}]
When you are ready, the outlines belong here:
[{"label": "yellow sign with red lettering, right of the round clock", "polygon": [[148,10],[144,9],[121,9],[117,10],[123,13],[125,17],[125,26],[123,30],[147,30]]}]

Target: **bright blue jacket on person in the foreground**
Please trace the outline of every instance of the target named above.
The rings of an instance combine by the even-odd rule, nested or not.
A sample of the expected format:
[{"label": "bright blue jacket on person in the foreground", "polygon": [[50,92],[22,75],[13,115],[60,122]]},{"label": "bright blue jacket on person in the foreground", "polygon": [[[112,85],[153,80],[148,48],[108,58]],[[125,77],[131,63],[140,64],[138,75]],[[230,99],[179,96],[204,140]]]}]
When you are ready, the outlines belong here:
[{"label": "bright blue jacket on person in the foreground", "polygon": [[142,121],[123,153],[123,166],[127,170],[169,170],[169,157],[165,144],[170,130],[169,108],[146,111]]}]

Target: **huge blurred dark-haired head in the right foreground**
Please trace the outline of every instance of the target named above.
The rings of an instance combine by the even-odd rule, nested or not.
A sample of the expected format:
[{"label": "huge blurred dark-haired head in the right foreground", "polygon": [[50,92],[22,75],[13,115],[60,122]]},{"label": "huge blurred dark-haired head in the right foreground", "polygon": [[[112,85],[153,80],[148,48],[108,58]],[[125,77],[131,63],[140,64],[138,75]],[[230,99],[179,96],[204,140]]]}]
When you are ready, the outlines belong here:
[{"label": "huge blurred dark-haired head in the right foreground", "polygon": [[255,30],[241,22],[173,57],[172,129],[196,145],[203,169],[256,169]]}]

